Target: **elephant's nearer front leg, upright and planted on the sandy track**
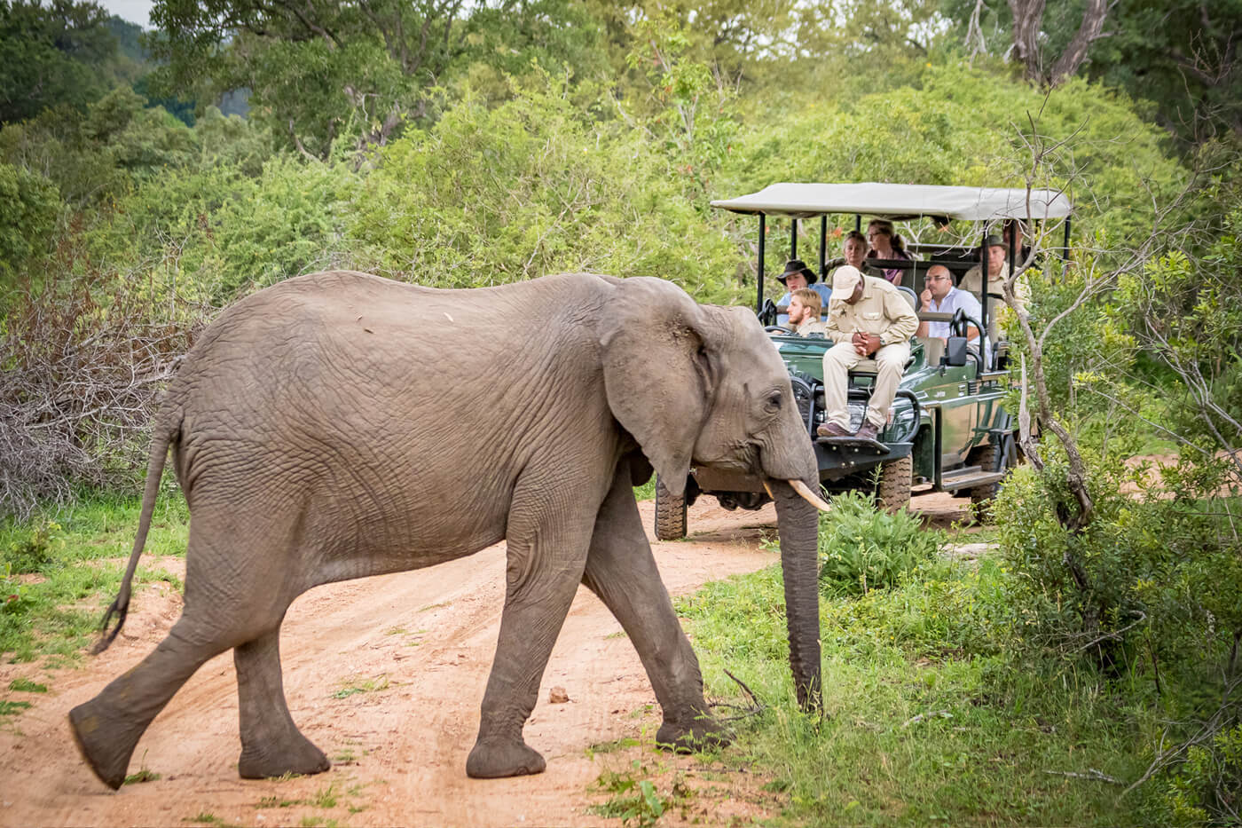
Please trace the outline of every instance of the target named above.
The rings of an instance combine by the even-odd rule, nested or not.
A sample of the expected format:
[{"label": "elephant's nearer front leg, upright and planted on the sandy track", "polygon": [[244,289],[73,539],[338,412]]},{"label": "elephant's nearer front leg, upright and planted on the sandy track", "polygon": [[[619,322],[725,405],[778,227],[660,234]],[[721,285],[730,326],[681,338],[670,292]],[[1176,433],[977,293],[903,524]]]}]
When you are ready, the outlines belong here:
[{"label": "elephant's nearer front leg, upright and planted on the sandy track", "polygon": [[476,778],[542,773],[546,766],[543,756],[527,746],[522,729],[534,710],[544,668],[586,559],[594,510],[575,508],[571,492],[556,496],[540,486],[527,491],[528,497],[514,497],[510,510],[501,634],[483,695],[478,740],[466,760],[466,773]]}]

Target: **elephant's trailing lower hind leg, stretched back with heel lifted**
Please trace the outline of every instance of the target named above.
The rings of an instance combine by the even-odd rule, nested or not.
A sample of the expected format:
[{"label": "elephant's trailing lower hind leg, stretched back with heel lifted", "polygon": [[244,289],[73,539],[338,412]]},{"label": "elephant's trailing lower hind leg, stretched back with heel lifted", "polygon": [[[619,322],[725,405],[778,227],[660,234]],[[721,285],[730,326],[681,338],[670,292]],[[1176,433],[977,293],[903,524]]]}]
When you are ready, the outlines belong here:
[{"label": "elephant's trailing lower hind leg, stretched back with heel lifted", "polygon": [[204,640],[183,617],[137,666],[70,711],[70,729],[82,757],[112,789],[125,781],[129,758],[152,720],[195,670],[231,643]]}]

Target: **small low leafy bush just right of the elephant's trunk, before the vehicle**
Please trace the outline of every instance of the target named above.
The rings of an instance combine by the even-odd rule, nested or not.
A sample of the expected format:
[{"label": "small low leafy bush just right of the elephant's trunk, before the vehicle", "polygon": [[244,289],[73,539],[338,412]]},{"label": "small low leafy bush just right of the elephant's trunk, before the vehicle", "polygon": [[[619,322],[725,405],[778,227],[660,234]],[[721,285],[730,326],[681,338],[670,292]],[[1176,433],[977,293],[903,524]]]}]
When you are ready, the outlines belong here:
[{"label": "small low leafy bush just right of the elephant's trunk, before the vehicle", "polygon": [[820,523],[820,584],[830,592],[864,596],[897,586],[932,561],[944,535],[924,530],[913,515],[889,515],[871,499],[847,492],[832,499]]}]

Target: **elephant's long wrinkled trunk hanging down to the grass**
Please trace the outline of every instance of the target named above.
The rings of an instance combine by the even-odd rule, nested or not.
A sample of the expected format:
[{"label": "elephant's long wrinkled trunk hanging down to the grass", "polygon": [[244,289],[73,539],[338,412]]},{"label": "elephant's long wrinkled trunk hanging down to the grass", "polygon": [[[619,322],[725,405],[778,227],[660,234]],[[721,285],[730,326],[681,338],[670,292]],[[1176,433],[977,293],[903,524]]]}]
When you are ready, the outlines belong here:
[{"label": "elephant's long wrinkled trunk hanging down to the grass", "polygon": [[[784,480],[770,481],[780,532],[780,564],[785,578],[785,619],[789,663],[797,704],[821,707],[818,510]],[[817,489],[818,486],[816,486]]]}]

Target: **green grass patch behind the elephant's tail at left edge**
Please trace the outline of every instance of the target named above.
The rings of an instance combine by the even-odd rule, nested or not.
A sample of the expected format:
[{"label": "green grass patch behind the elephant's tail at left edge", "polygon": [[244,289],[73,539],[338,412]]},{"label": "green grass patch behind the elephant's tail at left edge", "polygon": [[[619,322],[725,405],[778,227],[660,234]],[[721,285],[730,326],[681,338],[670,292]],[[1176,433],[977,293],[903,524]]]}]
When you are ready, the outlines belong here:
[{"label": "green grass patch behind the elephant's tail at left edge", "polygon": [[[96,499],[0,525],[0,658],[81,656],[120,588],[140,510],[137,499]],[[163,491],[144,559],[184,554],[188,535],[185,500]],[[135,583],[153,581],[181,588],[164,569],[139,566]]]}]

